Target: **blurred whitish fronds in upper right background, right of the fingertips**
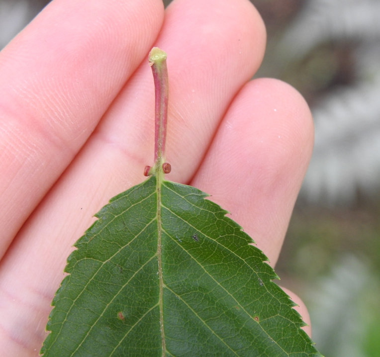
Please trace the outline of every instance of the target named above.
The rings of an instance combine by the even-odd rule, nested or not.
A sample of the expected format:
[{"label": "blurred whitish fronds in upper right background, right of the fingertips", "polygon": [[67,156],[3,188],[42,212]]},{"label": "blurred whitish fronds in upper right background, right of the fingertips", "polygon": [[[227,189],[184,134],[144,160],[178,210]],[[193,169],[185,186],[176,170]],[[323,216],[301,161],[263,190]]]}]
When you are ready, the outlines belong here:
[{"label": "blurred whitish fronds in upper right background, right of the fingertips", "polygon": [[358,43],[356,84],[312,108],[315,146],[301,189],[308,201],[349,203],[358,189],[380,188],[379,15],[379,0],[309,0],[279,43],[285,61],[326,41]]}]

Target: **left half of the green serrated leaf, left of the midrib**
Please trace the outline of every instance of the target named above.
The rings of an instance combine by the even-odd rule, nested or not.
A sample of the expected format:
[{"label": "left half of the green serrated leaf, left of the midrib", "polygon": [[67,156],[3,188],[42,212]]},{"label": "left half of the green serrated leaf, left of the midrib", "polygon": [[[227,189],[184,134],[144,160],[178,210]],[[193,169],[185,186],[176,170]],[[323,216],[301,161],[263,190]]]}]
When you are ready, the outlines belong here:
[{"label": "left half of the green serrated leaf, left of the midrib", "polygon": [[[155,195],[155,182],[149,180],[117,195],[96,214],[98,220],[76,243],[75,246],[78,249],[69,257],[65,269],[70,275],[65,278],[66,281],[53,300],[55,307],[47,325],[51,334],[46,339],[41,351],[45,354],[44,356],[111,356],[112,353],[114,354],[113,350],[117,346],[120,348],[120,345],[114,343],[113,346],[107,348],[104,347],[104,341],[112,339],[121,341],[122,334],[128,332],[128,326],[135,326],[138,316],[145,316],[144,314],[152,306],[157,305],[158,283],[154,284],[157,264],[152,264],[152,258],[157,253],[157,241],[154,239],[157,236],[157,225],[152,224],[152,222],[155,223],[156,217],[154,204],[157,199]],[[125,209],[126,206],[129,207],[128,210]],[[143,214],[140,220],[131,223],[128,219],[123,219],[121,212],[124,212],[124,216],[126,212],[130,213],[130,217],[136,216],[136,213],[141,215],[143,212]],[[116,221],[115,217],[118,218]],[[113,227],[108,228],[110,222],[113,223]],[[126,228],[126,226],[128,227]],[[136,237],[140,237],[140,239],[137,240]],[[104,244],[105,242],[108,244]],[[106,252],[102,251],[104,246],[108,248]],[[117,252],[123,252],[123,255],[117,255]],[[90,259],[88,259],[89,257]],[[102,261],[102,263],[91,264],[93,261]],[[133,263],[136,261],[139,261],[140,264]],[[102,270],[100,266],[102,266]],[[139,269],[134,269],[134,266]],[[143,273],[142,277],[136,275],[140,272]],[[81,276],[88,281],[81,281]],[[93,276],[98,277],[95,286],[90,283],[90,281],[95,282]],[[151,277],[150,280],[146,279],[147,276]],[[74,283],[70,282],[71,278],[79,280],[76,284],[77,288]],[[134,281],[139,283],[134,284]],[[150,281],[150,286],[145,286],[144,281]],[[124,285],[127,286],[128,291],[121,290]],[[85,286],[86,290],[81,289],[81,286]],[[146,289],[150,291],[149,294],[144,293]],[[140,306],[134,306],[133,300],[129,302],[131,291],[134,291],[134,300],[145,302],[146,306],[142,306],[142,303]],[[71,296],[73,292],[76,292],[76,297]],[[108,301],[106,295],[108,295]],[[112,297],[120,295],[123,295],[122,301],[117,298],[112,300]],[[112,304],[110,305],[111,300]],[[69,301],[69,305],[67,305],[67,301]],[[72,302],[70,303],[70,301]],[[75,317],[81,314],[72,309],[74,302],[80,307],[82,315],[83,311],[88,309],[93,312],[83,318],[86,320],[86,324],[75,320]],[[89,302],[93,302],[94,306],[89,307]],[[61,310],[66,310],[67,316],[71,316],[72,320],[67,319],[66,316],[59,316]],[[107,314],[101,318],[104,314],[103,311],[107,311]],[[128,319],[124,317],[124,320],[120,320],[119,312],[124,312],[123,315],[128,316]],[[57,313],[58,316],[56,316]],[[56,324],[60,324],[62,327],[65,325],[65,329],[53,328],[52,321],[54,320],[58,320]],[[80,328],[81,326],[82,328]],[[118,327],[119,332],[114,332],[113,327]],[[100,330],[101,333],[97,330]],[[115,333],[120,336],[112,337]],[[55,339],[59,334],[62,336],[62,341],[56,342]],[[93,335],[98,337],[93,338]],[[85,343],[87,340],[90,341],[88,344],[91,346],[87,346]],[[159,345],[161,345],[160,341]],[[66,353],[67,349],[69,350]]]}]

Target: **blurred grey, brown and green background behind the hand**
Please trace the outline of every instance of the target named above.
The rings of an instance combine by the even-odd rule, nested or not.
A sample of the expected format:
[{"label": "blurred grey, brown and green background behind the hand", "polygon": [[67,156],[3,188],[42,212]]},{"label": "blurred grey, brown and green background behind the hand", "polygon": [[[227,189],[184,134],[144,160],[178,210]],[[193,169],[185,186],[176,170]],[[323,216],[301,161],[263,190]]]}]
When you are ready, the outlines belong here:
[{"label": "blurred grey, brown and green background behind the hand", "polygon": [[[380,357],[380,0],[251,1],[268,32],[255,77],[298,89],[315,123],[277,273],[323,355]],[[0,48],[47,2],[0,0]]]}]

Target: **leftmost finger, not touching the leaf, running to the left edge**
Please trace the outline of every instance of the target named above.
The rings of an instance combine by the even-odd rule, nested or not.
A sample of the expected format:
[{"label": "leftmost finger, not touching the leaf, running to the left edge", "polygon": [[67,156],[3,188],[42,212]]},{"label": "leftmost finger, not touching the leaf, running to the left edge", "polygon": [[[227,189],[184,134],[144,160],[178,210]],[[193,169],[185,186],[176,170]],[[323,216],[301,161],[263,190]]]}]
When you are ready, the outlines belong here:
[{"label": "leftmost finger, not touching the leaf, running to the left edge", "polygon": [[0,54],[0,257],[151,47],[159,0],[52,1]]}]

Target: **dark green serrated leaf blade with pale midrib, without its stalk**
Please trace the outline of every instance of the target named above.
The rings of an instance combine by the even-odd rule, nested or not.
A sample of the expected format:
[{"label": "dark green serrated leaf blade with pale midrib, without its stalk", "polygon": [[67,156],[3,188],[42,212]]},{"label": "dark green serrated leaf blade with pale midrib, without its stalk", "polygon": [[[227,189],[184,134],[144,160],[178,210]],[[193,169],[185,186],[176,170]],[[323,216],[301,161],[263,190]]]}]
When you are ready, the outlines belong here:
[{"label": "dark green serrated leaf blade with pale midrib, without its stalk", "polygon": [[225,210],[156,176],[76,243],[44,357],[321,356],[273,269]]}]

